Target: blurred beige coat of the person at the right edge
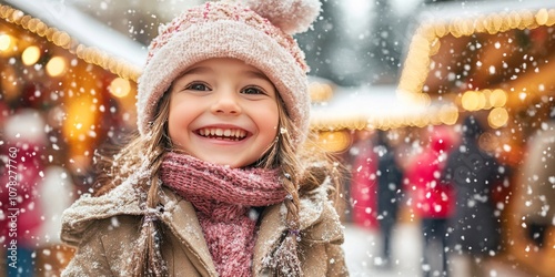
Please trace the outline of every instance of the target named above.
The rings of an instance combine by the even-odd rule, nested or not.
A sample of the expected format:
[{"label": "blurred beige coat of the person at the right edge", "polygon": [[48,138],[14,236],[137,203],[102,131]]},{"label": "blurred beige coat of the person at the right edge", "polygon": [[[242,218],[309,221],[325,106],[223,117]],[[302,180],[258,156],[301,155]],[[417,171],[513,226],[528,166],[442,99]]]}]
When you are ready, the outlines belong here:
[{"label": "blurred beige coat of the person at the right edge", "polygon": [[555,225],[555,121],[529,140],[522,168],[517,218]]}]

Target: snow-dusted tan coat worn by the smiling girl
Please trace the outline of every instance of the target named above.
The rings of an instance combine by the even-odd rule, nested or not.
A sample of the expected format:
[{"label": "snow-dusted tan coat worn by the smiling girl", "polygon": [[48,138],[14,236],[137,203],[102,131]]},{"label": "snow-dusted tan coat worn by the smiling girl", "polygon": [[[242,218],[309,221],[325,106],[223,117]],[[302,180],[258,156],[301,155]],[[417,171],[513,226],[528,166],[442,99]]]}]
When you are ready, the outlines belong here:
[{"label": "snow-dusted tan coat worn by the smiling girl", "polygon": [[[162,256],[170,276],[218,276],[191,203],[163,187]],[[135,247],[143,217],[139,195],[125,182],[99,197],[84,196],[62,217],[61,239],[78,247],[62,276],[129,276],[124,271]],[[343,230],[325,187],[301,199],[300,259],[305,276],[347,276]],[[260,219],[253,254],[253,276],[269,276],[269,256],[287,232],[285,207],[266,207]]]}]

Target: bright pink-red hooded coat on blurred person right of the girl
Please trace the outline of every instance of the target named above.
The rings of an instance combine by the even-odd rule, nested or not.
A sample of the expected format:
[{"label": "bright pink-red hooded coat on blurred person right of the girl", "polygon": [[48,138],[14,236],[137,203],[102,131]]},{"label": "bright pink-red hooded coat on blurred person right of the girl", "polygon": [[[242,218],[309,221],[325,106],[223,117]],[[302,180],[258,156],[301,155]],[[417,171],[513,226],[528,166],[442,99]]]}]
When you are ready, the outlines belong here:
[{"label": "bright pink-red hooded coat on blurred person right of the girl", "polygon": [[444,153],[451,146],[448,134],[435,131],[430,145],[412,161],[406,172],[413,189],[412,205],[421,218],[448,218],[454,213],[453,186],[442,181]]}]

